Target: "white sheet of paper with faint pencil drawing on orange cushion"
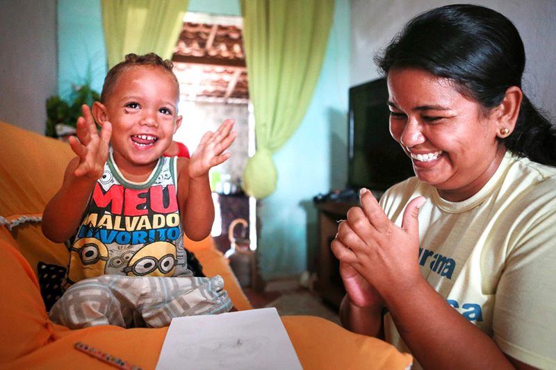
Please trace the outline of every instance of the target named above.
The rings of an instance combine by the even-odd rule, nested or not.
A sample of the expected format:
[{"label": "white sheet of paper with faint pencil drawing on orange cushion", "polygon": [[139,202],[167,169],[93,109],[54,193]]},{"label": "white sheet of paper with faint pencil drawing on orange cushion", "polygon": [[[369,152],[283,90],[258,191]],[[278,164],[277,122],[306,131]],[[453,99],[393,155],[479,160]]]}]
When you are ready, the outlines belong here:
[{"label": "white sheet of paper with faint pencil drawing on orange cushion", "polygon": [[156,370],[302,369],[276,308],[172,319]]}]

